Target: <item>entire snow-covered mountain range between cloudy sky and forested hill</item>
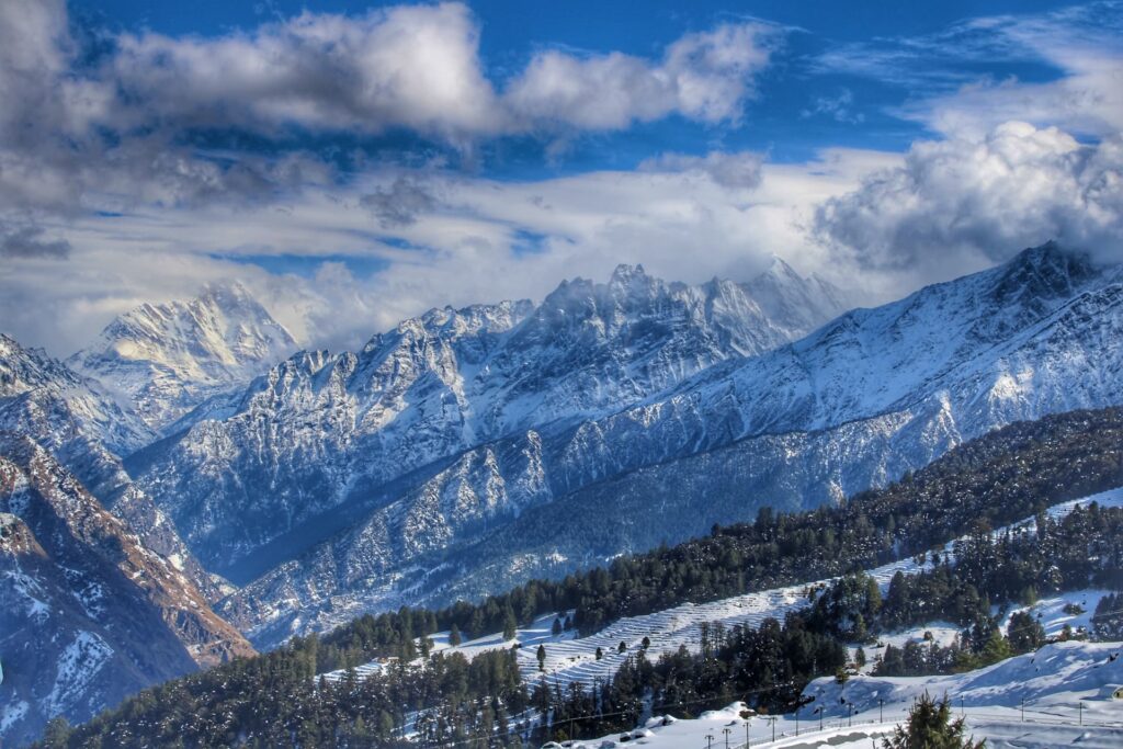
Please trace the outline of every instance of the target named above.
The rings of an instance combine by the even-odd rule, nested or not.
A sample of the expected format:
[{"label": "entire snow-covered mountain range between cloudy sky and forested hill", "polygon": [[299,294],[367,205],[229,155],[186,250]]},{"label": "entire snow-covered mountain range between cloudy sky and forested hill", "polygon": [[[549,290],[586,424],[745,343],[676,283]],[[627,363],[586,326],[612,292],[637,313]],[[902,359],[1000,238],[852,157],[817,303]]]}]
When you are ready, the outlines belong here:
[{"label": "entire snow-covered mountain range between cloudy sky and forested hill", "polygon": [[[1119,266],[1047,244],[876,309],[847,311],[850,294],[777,261],[693,286],[620,266],[540,303],[435,309],[356,351],[283,358],[292,336],[240,285],[143,305],[66,364],[4,337],[0,499],[18,569],[4,579],[79,600],[18,499],[35,464],[81,496],[53,506],[104,513],[200,612],[188,624],[174,596],[128,594],[188,654],[170,668],[249,652],[243,634],[271,648],[476,599],[761,508],[837,502],[1012,421],[1117,403],[1121,304]],[[56,673],[86,632],[127,661],[80,609],[36,620],[57,646],[36,657]],[[136,668],[128,688],[161,676]],[[47,687],[21,688],[30,705]],[[119,698],[77,692],[82,707],[58,711]]]}]

